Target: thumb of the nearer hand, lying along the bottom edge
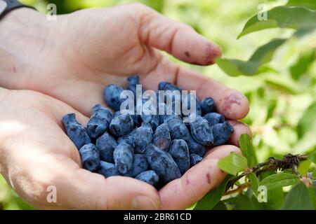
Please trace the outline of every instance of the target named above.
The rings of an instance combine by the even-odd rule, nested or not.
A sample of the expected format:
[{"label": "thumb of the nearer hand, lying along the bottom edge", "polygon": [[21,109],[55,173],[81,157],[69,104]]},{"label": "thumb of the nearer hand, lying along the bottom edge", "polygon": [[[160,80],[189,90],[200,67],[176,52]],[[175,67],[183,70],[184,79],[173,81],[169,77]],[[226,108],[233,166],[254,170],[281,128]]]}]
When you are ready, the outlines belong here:
[{"label": "thumb of the nearer hand, lying along the bottom edge", "polygon": [[60,169],[58,179],[54,181],[58,207],[66,209],[143,210],[160,207],[157,190],[129,177],[112,176],[105,179],[85,169],[71,170],[68,167]]}]

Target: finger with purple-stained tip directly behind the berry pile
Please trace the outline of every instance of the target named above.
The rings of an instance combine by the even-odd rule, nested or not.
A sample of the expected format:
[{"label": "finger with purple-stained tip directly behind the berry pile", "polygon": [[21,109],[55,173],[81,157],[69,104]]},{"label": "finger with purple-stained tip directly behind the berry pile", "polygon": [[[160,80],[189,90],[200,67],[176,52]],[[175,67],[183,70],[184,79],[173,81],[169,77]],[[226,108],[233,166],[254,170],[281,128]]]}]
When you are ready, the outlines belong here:
[{"label": "finger with purple-stained tip directly behind the berry pile", "polygon": [[162,80],[174,83],[183,90],[196,90],[197,97],[201,100],[212,97],[216,102],[216,111],[230,120],[242,119],[249,113],[249,102],[244,94],[225,87],[212,78],[177,66],[166,57],[141,81],[145,88],[157,90],[157,83]]}]

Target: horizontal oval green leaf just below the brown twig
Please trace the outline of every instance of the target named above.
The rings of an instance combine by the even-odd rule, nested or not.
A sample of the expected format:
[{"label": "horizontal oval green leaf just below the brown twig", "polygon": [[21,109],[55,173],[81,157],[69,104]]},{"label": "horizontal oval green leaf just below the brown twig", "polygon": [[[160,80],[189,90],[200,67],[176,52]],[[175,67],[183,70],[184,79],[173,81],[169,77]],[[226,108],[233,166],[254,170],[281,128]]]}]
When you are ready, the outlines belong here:
[{"label": "horizontal oval green leaf just below the brown twig", "polygon": [[282,188],[285,186],[290,186],[295,183],[298,183],[300,179],[298,176],[294,174],[287,174],[287,173],[278,173],[272,174],[260,182],[260,186],[265,186],[266,188],[273,189],[273,188]]}]

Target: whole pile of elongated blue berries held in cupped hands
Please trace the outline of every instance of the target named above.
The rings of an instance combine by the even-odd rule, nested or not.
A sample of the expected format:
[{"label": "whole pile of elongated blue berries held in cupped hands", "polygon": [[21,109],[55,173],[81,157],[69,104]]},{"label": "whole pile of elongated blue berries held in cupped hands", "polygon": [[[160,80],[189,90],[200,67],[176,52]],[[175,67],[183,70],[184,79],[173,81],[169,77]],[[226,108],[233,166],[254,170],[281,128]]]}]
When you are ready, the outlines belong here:
[{"label": "whole pile of elongated blue berries held in cupped hands", "polygon": [[[136,94],[139,77],[131,76],[127,80],[127,90]],[[166,82],[159,83],[158,89],[180,90]],[[161,188],[202,161],[206,147],[225,144],[234,131],[232,125],[215,112],[211,97],[200,102],[190,93],[180,100],[171,99],[172,103],[180,101],[181,104],[192,98],[196,101],[195,120],[184,123],[187,115],[175,111],[169,115],[122,113],[123,91],[118,85],[107,85],[105,102],[116,112],[100,104],[93,106],[87,127],[78,123],[74,113],[62,118],[68,137],[79,150],[84,169],[105,178],[129,176]],[[163,101],[166,103],[166,99]],[[160,102],[159,106],[166,108],[165,103]]]}]

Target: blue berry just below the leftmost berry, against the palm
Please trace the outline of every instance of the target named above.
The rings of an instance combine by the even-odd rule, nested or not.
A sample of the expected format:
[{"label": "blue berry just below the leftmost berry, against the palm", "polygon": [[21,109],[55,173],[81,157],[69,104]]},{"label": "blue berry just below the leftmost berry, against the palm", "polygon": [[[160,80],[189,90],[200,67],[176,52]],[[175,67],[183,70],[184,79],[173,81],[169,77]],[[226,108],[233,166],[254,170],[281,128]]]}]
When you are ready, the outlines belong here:
[{"label": "blue berry just below the leftmost berry, against the palm", "polygon": [[95,145],[86,144],[80,148],[79,153],[84,169],[96,172],[100,168],[100,153]]}]

